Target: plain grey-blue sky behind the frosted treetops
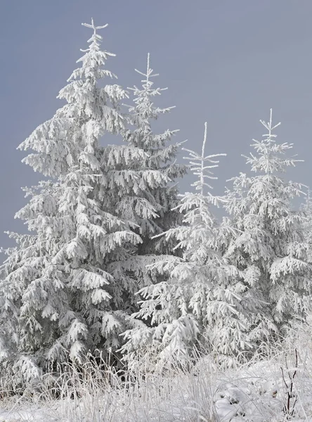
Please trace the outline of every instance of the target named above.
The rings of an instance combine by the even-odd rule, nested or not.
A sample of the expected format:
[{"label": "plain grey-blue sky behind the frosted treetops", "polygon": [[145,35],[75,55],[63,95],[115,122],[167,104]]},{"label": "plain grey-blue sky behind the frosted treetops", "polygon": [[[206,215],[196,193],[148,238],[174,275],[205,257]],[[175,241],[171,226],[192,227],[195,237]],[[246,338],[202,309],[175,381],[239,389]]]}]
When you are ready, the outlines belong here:
[{"label": "plain grey-blue sky behind the frosted treetops", "polygon": [[117,57],[107,68],[123,87],[140,82],[134,68],[145,68],[150,51],[155,82],[169,87],[160,105],[176,106],[159,127],[180,129],[176,139],[199,150],[207,120],[209,152],[228,153],[215,193],[247,171],[240,154],[261,138],[271,107],[279,140],[306,159],[290,177],[311,184],[311,15],[311,0],[1,0],[0,245],[12,245],[3,231],[25,231],[13,218],[25,203],[20,186],[39,177],[16,147],[63,105],[56,96],[86,48],[81,23],[91,17],[110,24],[103,47]]}]

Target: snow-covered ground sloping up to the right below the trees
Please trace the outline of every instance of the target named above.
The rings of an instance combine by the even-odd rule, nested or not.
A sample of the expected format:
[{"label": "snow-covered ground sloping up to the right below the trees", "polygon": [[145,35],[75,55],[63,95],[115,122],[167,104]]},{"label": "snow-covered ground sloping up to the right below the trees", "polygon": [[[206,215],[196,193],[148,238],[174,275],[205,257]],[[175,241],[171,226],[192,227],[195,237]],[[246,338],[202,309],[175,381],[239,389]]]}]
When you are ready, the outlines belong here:
[{"label": "snow-covered ground sloping up to the right below the trees", "polygon": [[192,373],[154,374],[141,386],[82,385],[80,399],[7,402],[0,422],[312,422],[311,367],[280,356],[221,372],[202,359]]}]

